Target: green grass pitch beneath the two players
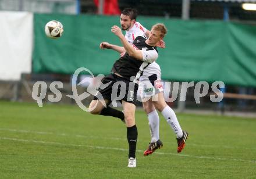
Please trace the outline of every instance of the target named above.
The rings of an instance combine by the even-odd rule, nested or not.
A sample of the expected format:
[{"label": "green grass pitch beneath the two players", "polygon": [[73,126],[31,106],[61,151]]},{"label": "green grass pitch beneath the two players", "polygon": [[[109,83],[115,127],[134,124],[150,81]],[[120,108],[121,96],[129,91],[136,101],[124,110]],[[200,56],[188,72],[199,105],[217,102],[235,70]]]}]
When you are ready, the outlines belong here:
[{"label": "green grass pitch beneath the two players", "polygon": [[78,106],[0,102],[0,178],[256,178],[256,119],[177,114],[190,134],[178,154],[159,116],[163,148],[143,156],[150,131],[136,112],[137,167],[129,169],[120,120]]}]

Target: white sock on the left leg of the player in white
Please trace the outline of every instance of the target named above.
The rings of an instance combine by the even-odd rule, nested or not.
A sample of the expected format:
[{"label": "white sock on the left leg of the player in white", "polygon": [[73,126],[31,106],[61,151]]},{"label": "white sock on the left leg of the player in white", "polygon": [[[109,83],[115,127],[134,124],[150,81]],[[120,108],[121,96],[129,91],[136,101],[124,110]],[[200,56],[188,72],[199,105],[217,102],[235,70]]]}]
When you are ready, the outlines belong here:
[{"label": "white sock on the left leg of the player in white", "polygon": [[159,139],[159,116],[157,110],[148,113],[148,125],[150,126],[151,142]]}]

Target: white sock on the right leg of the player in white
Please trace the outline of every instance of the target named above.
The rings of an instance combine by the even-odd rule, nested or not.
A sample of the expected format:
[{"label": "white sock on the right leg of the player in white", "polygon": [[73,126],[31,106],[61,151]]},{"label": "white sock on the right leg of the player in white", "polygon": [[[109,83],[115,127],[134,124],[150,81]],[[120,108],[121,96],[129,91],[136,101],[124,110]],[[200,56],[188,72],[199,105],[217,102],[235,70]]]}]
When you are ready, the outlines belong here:
[{"label": "white sock on the right leg of the player in white", "polygon": [[169,106],[166,106],[162,110],[163,117],[165,117],[167,123],[172,127],[173,132],[177,135],[177,137],[182,137],[183,132],[180,127],[179,121],[177,120],[175,112]]}]

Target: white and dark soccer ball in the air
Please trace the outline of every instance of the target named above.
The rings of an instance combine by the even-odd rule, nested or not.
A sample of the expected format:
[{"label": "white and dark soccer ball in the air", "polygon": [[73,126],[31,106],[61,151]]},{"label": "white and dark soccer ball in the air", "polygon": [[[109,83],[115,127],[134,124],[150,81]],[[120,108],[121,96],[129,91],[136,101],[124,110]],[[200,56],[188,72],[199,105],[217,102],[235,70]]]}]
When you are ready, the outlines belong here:
[{"label": "white and dark soccer ball in the air", "polygon": [[49,38],[59,38],[63,34],[63,25],[62,23],[51,20],[45,25],[45,34]]}]

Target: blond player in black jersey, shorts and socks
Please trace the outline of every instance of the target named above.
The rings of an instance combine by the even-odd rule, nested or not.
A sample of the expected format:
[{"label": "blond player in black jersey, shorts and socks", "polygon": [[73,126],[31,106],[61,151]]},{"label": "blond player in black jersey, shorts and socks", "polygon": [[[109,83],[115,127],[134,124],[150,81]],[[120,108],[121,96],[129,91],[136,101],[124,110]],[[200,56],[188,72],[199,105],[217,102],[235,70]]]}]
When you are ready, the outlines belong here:
[{"label": "blond player in black jersey, shorts and socks", "polygon": [[[167,30],[164,24],[155,24],[152,26],[147,40],[139,36],[134,40],[133,44],[129,44],[118,26],[113,26],[111,31],[119,37],[123,47],[126,49],[126,54],[116,60],[112,68],[112,74],[102,79],[102,83],[108,85],[104,89],[99,89],[98,95],[94,96],[89,109],[91,109],[90,112],[92,114],[122,118],[122,112],[109,106],[104,107],[104,104],[109,105],[116,99],[122,102],[129,143],[128,167],[136,167],[135,153],[138,133],[134,116],[138,90],[137,82],[143,69],[157,60],[158,51],[156,45],[163,40]],[[123,98],[120,99],[120,96],[123,96]]]}]

